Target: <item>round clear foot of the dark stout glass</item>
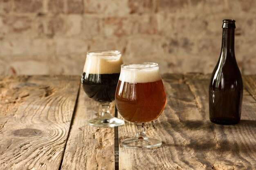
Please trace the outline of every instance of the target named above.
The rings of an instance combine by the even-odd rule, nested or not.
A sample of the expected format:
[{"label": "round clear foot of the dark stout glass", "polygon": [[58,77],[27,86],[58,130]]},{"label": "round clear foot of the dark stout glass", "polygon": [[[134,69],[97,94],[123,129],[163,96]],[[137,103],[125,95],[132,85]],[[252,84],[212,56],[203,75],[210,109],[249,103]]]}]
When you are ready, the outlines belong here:
[{"label": "round clear foot of the dark stout glass", "polygon": [[96,126],[101,128],[110,128],[115,126],[121,126],[124,124],[124,121],[116,117],[95,117],[88,120],[90,126]]}]

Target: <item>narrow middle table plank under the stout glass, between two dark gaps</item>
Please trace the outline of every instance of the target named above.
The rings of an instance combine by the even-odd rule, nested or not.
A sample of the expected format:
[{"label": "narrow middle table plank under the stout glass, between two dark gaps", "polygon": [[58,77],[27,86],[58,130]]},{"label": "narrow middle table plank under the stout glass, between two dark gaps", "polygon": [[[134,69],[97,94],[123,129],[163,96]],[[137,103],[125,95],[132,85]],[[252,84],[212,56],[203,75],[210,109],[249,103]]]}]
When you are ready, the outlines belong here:
[{"label": "narrow middle table plank under the stout glass, between two dark gaps", "polygon": [[[114,106],[110,107],[113,116]],[[114,128],[92,127],[86,122],[100,111],[100,104],[81,87],[61,170],[115,170]]]}]

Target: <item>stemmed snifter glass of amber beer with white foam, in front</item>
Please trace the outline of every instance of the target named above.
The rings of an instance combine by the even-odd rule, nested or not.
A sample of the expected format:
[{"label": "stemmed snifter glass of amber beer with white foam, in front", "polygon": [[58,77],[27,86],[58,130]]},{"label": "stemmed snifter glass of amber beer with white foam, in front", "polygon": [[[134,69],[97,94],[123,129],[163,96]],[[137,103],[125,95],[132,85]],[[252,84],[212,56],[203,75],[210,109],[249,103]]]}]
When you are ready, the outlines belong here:
[{"label": "stemmed snifter glass of amber beer with white foam, in front", "polygon": [[115,104],[120,115],[137,126],[137,135],[121,141],[126,148],[157,148],[162,141],[146,136],[146,122],[159,117],[166,104],[166,93],[159,65],[151,62],[121,65],[115,94]]}]

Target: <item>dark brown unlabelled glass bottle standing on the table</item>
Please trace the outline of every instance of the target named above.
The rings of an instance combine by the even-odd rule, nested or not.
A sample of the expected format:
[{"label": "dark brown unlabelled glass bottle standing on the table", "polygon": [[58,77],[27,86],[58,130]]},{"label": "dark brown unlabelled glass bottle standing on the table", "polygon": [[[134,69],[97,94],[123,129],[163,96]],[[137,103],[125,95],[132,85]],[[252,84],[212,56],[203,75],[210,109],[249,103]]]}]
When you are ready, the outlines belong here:
[{"label": "dark brown unlabelled glass bottle standing on the table", "polygon": [[209,117],[215,124],[237,124],[241,117],[243,80],[236,63],[235,20],[223,20],[220,58],[209,85]]}]

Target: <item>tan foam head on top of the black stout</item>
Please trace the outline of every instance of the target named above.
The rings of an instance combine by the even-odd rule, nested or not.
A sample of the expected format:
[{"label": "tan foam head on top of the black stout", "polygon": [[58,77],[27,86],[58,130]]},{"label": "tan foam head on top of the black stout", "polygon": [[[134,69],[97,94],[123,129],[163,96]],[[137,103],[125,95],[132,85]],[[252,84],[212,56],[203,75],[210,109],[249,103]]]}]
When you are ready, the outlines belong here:
[{"label": "tan foam head on top of the black stout", "polygon": [[87,53],[84,73],[112,74],[120,73],[123,60],[120,51],[92,51]]}]

